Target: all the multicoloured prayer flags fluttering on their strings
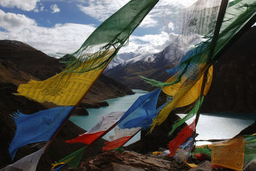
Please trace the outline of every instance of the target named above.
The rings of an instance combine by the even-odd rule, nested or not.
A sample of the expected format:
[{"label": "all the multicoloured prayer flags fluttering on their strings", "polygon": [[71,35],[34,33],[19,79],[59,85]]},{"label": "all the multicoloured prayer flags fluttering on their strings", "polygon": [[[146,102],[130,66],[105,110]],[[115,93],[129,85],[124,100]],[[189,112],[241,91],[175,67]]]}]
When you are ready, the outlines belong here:
[{"label": "all the multicoloured prayer flags fluttering on their strings", "polygon": [[[31,80],[28,84],[21,84],[18,87],[17,95],[19,96],[25,96],[41,103],[49,101],[60,107],[49,108],[31,115],[20,112],[12,114],[17,126],[15,137],[9,147],[12,159],[17,149],[24,145],[36,142],[47,142],[47,144],[1,171],[10,170],[12,167],[36,170],[40,156],[56,137],[61,126],[65,124],[93,82],[115,57],[118,50],[127,43],[131,33],[157,2],[158,0],[129,1],[84,41],[81,48],[72,54],[76,59],[69,61],[65,70],[47,80]],[[174,108],[192,105],[192,110],[184,119],[177,121],[170,132],[172,134],[182,123],[196,115],[195,121],[183,128],[169,143],[169,155],[186,162],[195,143],[193,135],[195,135],[196,122],[199,117],[198,111],[211,86],[212,65],[216,63],[219,54],[225,50],[232,38],[235,38],[244,27],[248,27],[247,25],[255,20],[255,6],[256,1],[252,0],[232,1],[229,4],[226,0],[207,2],[198,0],[190,7],[180,9],[181,32],[176,41],[177,46],[188,47],[189,43],[194,43],[195,46],[189,49],[184,48],[179,65],[167,71],[170,78],[166,82],[143,78],[149,84],[159,88],[140,96],[126,112],[102,115],[99,117],[99,123],[90,131],[72,140],[67,140],[67,143],[84,143],[85,146],[54,163],[52,170],[58,170],[63,165],[76,168],[86,151],[86,145],[92,144],[112,129],[115,130],[115,135],[110,137],[111,141],[106,142],[103,151],[124,145],[141,129],[149,128],[152,132],[157,125],[163,123]],[[157,108],[157,100],[161,91],[167,96],[166,103]],[[248,154],[236,159],[239,167],[234,167],[234,169],[241,170],[244,158],[246,162],[255,158],[255,153],[248,152],[249,148],[246,149],[246,145],[254,142],[255,136],[249,136],[222,142],[222,145],[213,144],[211,147],[212,163],[227,167],[227,163],[220,163],[220,160],[223,161],[222,157],[225,156],[224,151],[227,147],[233,148],[239,145],[239,154],[246,152]],[[221,154],[220,151],[222,151]],[[57,166],[58,168],[55,168]]]}]

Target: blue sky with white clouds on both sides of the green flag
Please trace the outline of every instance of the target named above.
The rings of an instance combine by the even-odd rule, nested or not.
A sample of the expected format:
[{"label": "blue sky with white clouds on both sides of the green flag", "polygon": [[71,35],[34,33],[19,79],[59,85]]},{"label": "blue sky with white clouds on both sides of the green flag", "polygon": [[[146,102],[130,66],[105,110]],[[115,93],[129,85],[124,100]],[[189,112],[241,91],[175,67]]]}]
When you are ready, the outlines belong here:
[{"label": "blue sky with white clouds on both sides of the green flag", "polygon": [[[160,0],[120,53],[157,53],[177,36],[172,16],[196,0]],[[75,52],[129,0],[1,0],[0,40],[28,43],[50,56]],[[169,10],[166,10],[169,9]]]}]

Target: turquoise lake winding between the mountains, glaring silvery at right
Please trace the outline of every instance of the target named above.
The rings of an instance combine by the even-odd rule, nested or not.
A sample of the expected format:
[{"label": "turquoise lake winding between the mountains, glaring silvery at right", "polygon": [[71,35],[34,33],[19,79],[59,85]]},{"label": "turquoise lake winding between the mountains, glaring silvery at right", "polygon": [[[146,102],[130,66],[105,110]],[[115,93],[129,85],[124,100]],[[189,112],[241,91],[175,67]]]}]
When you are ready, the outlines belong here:
[{"label": "turquoise lake winding between the mountains, glaring silvery at right", "polygon": [[[110,112],[126,111],[131,107],[132,103],[147,91],[133,90],[136,94],[127,95],[120,98],[113,98],[106,100],[109,103],[108,107],[101,108],[88,108],[89,115],[84,116],[72,116],[72,121],[77,126],[80,126],[84,130],[90,130],[95,124],[98,123],[98,116],[102,114],[109,114]],[[179,114],[180,117],[184,117],[184,114]],[[200,114],[198,124],[196,126],[196,133],[198,137],[196,140],[208,140],[208,139],[226,139],[232,138],[241,130],[254,123],[256,114],[233,114],[233,113],[214,113],[214,114]],[[189,121],[188,121],[189,123]],[[113,131],[110,131],[107,135],[113,135]],[[106,136],[107,136],[106,135]],[[104,137],[108,140],[108,138]],[[127,144],[140,140],[140,133],[134,136]],[[197,145],[207,144],[207,142],[198,142]]]}]

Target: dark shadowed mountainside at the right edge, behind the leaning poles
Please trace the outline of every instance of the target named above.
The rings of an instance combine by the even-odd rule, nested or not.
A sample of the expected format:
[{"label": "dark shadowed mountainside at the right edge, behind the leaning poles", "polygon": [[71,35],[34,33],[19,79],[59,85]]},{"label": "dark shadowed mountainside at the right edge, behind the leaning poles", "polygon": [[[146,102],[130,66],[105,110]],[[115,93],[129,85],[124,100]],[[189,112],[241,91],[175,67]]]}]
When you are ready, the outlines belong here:
[{"label": "dark shadowed mountainside at the right edge, behind the leaning poles", "polygon": [[256,27],[250,28],[214,64],[201,112],[256,113]]}]

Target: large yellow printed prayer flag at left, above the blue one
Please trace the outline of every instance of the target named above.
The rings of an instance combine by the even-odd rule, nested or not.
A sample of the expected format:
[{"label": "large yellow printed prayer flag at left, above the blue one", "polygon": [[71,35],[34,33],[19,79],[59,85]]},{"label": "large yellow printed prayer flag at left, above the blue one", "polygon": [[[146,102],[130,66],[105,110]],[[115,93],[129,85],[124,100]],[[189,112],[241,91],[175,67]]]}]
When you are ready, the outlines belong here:
[{"label": "large yellow printed prayer flag at left, above the blue one", "polygon": [[[109,50],[102,58],[111,56],[113,52],[114,50]],[[92,59],[87,61],[87,63],[91,61]],[[81,66],[72,72],[67,72],[67,69],[65,69],[60,74],[44,81],[31,80],[27,84],[20,84],[17,89],[19,92],[17,95],[25,96],[40,103],[49,101],[56,105],[76,105],[90,89],[93,82],[97,80],[102,71],[104,71],[107,64],[100,69],[79,73],[83,66],[84,64],[81,63]]]}]

